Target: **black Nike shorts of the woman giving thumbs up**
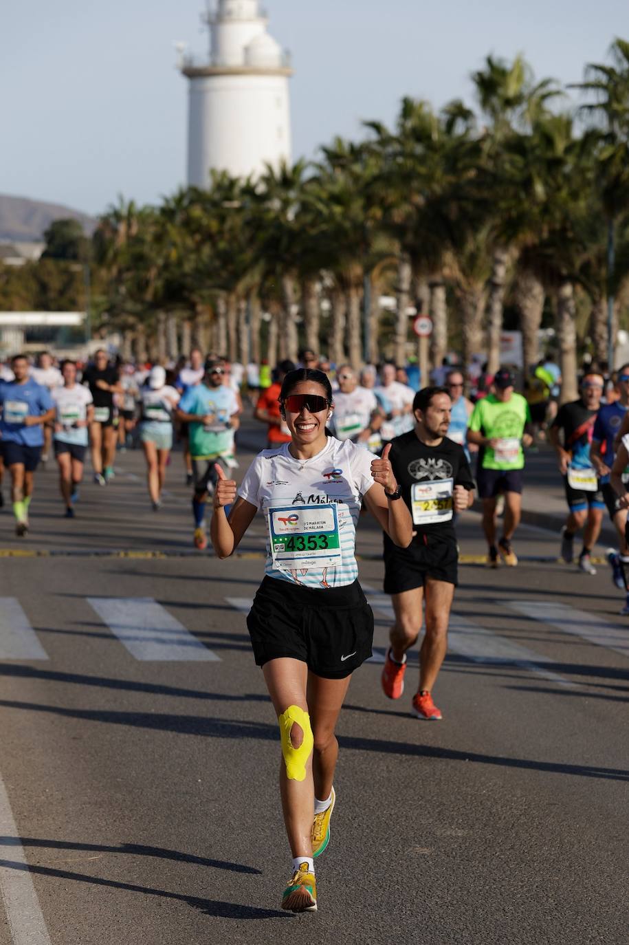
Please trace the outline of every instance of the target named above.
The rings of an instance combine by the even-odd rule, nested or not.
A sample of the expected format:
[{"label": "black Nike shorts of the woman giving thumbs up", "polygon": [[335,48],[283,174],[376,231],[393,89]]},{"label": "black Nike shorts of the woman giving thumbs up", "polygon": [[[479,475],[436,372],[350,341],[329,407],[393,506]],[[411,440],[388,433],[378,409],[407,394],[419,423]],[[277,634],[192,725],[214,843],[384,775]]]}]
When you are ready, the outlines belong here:
[{"label": "black Nike shorts of the woman giving thumbs up", "polygon": [[324,679],[345,679],[371,656],[373,613],[358,581],[298,587],[264,577],[246,626],[258,666],[290,657]]}]

